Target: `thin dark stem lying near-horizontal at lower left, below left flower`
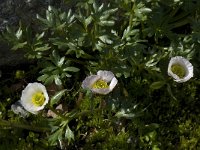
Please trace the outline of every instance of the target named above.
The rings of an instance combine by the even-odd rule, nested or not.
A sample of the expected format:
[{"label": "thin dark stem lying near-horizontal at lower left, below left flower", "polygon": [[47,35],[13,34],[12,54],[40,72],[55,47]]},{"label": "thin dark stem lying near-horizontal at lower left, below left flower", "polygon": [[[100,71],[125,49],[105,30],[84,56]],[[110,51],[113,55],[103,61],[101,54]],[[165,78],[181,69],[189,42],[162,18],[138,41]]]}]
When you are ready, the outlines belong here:
[{"label": "thin dark stem lying near-horizontal at lower left, below left flower", "polygon": [[14,123],[14,122],[2,120],[2,119],[0,119],[0,126],[7,126],[11,128],[22,128],[26,130],[35,131],[35,132],[51,131],[51,129],[47,127],[35,127],[35,126],[30,126],[30,125],[25,125],[25,124],[20,124],[20,123]]}]

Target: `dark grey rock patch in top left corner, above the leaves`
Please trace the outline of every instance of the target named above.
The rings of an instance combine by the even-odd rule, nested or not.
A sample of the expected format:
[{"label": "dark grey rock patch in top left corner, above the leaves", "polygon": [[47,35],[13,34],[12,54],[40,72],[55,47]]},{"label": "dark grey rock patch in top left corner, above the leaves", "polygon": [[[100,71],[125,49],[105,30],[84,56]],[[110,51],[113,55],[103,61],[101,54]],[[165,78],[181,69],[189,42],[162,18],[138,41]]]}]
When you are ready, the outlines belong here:
[{"label": "dark grey rock patch in top left corner, above the leaves", "polygon": [[36,14],[44,12],[48,5],[59,6],[61,0],[1,0],[0,30],[7,25],[18,25],[19,21],[29,24]]}]

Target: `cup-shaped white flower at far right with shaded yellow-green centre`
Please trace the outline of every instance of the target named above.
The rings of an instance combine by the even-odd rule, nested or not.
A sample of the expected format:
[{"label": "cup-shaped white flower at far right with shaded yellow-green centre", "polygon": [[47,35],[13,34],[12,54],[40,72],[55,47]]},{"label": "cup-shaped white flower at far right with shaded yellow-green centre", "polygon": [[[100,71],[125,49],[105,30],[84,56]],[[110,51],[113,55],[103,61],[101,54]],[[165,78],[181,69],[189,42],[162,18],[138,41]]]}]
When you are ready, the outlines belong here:
[{"label": "cup-shaped white flower at far right with shaded yellow-green centre", "polygon": [[193,66],[182,56],[172,57],[168,65],[168,75],[176,82],[186,82],[193,77]]}]

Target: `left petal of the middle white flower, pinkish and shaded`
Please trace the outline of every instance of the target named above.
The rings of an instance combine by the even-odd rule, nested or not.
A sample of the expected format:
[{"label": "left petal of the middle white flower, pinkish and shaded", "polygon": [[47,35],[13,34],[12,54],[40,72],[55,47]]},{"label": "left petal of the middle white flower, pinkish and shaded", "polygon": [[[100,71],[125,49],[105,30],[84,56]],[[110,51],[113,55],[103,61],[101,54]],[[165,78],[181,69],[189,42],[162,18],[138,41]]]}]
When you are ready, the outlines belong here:
[{"label": "left petal of the middle white flower, pinkish and shaded", "polygon": [[87,89],[87,88],[92,88],[92,85],[99,80],[101,77],[98,75],[91,75],[85,78],[82,83],[82,88]]}]

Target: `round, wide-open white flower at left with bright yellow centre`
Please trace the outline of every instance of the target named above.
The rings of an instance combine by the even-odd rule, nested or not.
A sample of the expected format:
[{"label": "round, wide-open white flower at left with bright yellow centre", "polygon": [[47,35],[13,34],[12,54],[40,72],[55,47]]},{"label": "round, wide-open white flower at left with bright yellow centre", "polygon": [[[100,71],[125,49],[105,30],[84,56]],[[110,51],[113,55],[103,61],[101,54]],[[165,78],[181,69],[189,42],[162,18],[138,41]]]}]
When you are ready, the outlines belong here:
[{"label": "round, wide-open white flower at left with bright yellow centre", "polygon": [[22,91],[20,103],[30,113],[37,114],[48,103],[49,96],[41,83],[29,83]]}]

